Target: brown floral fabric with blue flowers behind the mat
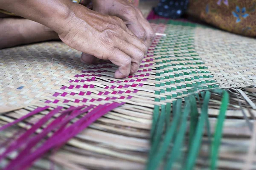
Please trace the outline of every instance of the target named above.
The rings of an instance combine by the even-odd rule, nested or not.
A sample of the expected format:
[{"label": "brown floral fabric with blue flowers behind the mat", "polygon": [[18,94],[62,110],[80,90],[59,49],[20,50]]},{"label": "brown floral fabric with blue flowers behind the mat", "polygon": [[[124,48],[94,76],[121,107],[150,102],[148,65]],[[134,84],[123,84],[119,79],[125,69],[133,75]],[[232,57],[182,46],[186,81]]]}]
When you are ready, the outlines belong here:
[{"label": "brown floral fabric with blue flowers behind the mat", "polygon": [[187,14],[226,31],[256,36],[256,0],[190,0]]}]

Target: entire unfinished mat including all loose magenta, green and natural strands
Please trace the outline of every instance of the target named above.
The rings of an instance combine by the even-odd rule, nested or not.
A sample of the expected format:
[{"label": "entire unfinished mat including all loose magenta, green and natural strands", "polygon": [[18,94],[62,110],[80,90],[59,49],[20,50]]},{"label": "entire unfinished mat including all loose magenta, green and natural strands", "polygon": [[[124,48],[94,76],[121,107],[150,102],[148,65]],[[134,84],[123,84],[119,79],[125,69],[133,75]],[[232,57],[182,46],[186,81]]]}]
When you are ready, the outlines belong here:
[{"label": "entire unfinished mat including all loose magenta, green and natural strands", "polygon": [[125,79],[62,42],[0,50],[1,168],[255,169],[256,40],[151,26],[166,36]]}]

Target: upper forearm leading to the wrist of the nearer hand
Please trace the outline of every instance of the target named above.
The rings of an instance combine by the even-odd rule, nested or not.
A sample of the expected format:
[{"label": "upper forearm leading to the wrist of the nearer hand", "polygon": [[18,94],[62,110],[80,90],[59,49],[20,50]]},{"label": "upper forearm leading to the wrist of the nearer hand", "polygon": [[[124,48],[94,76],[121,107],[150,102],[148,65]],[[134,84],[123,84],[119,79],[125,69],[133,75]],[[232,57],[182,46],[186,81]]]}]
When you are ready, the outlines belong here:
[{"label": "upper forearm leading to the wrist of the nearer hand", "polygon": [[0,7],[21,17],[59,30],[70,15],[71,0],[0,0]]}]

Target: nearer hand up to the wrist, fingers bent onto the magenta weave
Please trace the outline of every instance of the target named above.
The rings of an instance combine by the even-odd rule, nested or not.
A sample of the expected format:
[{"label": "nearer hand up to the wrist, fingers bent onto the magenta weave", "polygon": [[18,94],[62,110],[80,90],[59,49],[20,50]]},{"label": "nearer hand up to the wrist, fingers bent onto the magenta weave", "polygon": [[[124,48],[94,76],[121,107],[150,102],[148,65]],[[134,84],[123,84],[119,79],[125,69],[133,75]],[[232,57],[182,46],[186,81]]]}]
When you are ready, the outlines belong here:
[{"label": "nearer hand up to the wrist, fingers bent onto the magenta weave", "polygon": [[134,74],[147,46],[118,17],[99,14],[73,3],[62,27],[55,30],[67,45],[99,59],[109,59],[119,68],[116,78]]}]

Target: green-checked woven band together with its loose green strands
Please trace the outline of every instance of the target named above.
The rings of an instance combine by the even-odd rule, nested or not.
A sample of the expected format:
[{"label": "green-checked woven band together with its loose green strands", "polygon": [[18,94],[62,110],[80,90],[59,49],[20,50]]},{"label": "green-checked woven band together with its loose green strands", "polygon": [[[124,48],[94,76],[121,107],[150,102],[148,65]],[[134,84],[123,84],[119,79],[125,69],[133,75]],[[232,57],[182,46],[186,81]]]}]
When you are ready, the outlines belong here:
[{"label": "green-checked woven band together with its loose green strands", "polygon": [[[166,21],[157,20],[157,22],[165,23]],[[175,166],[176,161],[182,158],[181,156],[186,158],[180,167],[187,170],[193,169],[201,148],[204,127],[207,129],[209,152],[211,151],[211,167],[212,169],[216,167],[224,117],[219,117],[221,120],[216,130],[218,128],[220,132],[213,136],[214,142],[211,147],[212,136],[208,119],[211,93],[209,91],[197,93],[197,91],[218,88],[218,85],[215,84],[215,79],[212,79],[212,75],[206,70],[207,67],[195,51],[194,29],[197,26],[193,23],[169,20],[165,31],[166,37],[162,37],[155,47],[154,58],[157,65],[155,75],[156,80],[159,81],[156,84],[159,90],[155,91],[155,101],[160,102],[166,99],[176,99],[176,101],[154,107],[147,170],[157,170],[160,165],[170,170]],[[222,93],[218,90],[216,92]],[[160,94],[161,97],[158,97],[157,95]],[[187,94],[189,97],[184,98],[185,106],[183,106],[180,96]],[[201,114],[198,113],[196,101],[196,99],[200,100],[199,94],[204,99]],[[225,110],[221,111],[222,114],[224,112]],[[199,116],[200,119],[198,119]],[[188,117],[190,125],[186,154],[181,147],[186,140]]]}]

